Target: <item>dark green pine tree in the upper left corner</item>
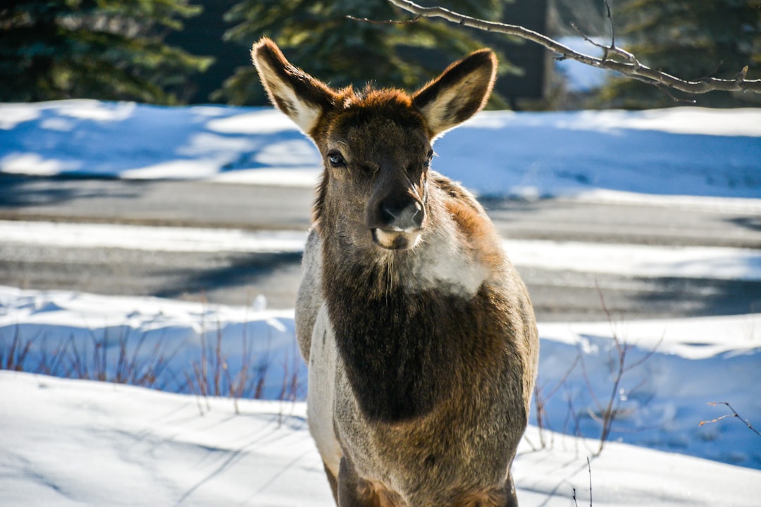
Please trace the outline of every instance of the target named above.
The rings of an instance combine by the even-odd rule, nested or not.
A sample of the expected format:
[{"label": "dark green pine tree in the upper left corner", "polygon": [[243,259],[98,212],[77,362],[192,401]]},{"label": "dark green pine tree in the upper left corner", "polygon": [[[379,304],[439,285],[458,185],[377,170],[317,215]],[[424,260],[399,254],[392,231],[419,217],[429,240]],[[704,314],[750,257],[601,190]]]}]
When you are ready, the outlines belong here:
[{"label": "dark green pine tree in the upper left corner", "polygon": [[88,97],[177,103],[211,59],[162,43],[187,0],[11,0],[0,6],[0,101]]}]

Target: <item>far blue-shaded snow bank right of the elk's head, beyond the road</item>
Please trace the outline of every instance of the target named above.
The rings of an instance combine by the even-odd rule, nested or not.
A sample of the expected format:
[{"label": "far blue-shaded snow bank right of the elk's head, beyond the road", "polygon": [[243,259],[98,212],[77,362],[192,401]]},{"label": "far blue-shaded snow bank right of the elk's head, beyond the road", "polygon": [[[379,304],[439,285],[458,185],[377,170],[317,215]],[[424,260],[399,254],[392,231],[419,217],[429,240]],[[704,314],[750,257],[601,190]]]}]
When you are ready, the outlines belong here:
[{"label": "far blue-shaded snow bank right of the elk's head, beyond the road", "polygon": [[[729,128],[728,115],[736,128]],[[694,133],[698,117],[702,134]],[[673,126],[664,130],[664,124]],[[435,146],[441,164],[434,166],[482,194],[573,196],[603,189],[759,198],[759,135],[761,112],[753,109],[484,112]],[[477,146],[489,147],[479,150],[479,170]]]}]

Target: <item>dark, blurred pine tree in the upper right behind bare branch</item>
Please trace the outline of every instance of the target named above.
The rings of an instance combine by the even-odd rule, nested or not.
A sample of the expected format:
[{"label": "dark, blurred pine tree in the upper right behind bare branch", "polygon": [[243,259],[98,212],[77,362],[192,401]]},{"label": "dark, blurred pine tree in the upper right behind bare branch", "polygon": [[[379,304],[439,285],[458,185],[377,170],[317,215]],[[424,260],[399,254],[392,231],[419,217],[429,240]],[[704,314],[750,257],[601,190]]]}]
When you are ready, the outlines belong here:
[{"label": "dark, blurred pine tree in the upper right behind bare branch", "polygon": [[[622,0],[613,5],[620,38],[651,68],[687,80],[734,78],[746,65],[748,79],[761,78],[761,1],[759,0]],[[629,108],[683,105],[759,106],[753,93],[712,92],[684,97],[639,81],[615,78],[600,97]]]}]

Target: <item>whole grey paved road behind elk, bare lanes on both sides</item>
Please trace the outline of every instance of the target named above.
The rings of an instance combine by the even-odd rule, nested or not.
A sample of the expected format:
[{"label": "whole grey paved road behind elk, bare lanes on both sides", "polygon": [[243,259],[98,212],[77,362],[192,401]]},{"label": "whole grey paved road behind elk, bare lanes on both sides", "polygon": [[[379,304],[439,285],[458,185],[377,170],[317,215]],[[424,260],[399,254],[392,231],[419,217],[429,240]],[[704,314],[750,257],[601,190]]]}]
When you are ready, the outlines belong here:
[{"label": "whole grey paved road behind elk, bare lanes on both sides", "polygon": [[[0,176],[0,220],[305,230],[310,189],[204,182]],[[505,237],[761,249],[758,211],[485,199]],[[177,253],[2,242],[0,284],[293,306],[294,253]],[[761,312],[761,284],[629,278],[518,266],[542,321]]]}]

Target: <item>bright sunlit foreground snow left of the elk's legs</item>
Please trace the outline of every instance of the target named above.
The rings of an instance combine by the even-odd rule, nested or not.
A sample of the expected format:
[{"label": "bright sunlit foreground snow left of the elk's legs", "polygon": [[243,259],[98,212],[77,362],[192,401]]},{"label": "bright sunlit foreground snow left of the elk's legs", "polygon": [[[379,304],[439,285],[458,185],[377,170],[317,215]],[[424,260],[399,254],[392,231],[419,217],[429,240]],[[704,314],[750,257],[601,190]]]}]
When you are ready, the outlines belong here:
[{"label": "bright sunlit foreground snow left of the elk's legs", "polygon": [[[0,372],[4,505],[330,505],[304,404]],[[295,486],[298,485],[298,486]],[[301,499],[301,501],[299,501]]]}]

